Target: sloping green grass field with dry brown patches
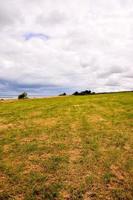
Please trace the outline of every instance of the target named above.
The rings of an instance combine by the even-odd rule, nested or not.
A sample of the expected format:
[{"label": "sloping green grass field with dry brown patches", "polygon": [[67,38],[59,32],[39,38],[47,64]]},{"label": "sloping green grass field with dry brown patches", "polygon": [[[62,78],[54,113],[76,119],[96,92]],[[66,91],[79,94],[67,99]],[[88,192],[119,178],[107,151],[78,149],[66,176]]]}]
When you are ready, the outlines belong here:
[{"label": "sloping green grass field with dry brown patches", "polygon": [[132,200],[133,93],[0,102],[0,200]]}]

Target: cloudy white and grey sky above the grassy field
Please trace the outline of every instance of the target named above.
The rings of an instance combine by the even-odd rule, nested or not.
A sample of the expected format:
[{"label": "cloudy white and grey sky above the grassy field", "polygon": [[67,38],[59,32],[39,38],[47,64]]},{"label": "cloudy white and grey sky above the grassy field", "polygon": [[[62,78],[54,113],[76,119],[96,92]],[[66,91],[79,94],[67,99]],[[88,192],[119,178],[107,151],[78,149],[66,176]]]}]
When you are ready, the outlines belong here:
[{"label": "cloudy white and grey sky above the grassy field", "polygon": [[0,0],[0,96],[133,90],[132,0]]}]

